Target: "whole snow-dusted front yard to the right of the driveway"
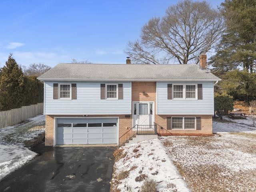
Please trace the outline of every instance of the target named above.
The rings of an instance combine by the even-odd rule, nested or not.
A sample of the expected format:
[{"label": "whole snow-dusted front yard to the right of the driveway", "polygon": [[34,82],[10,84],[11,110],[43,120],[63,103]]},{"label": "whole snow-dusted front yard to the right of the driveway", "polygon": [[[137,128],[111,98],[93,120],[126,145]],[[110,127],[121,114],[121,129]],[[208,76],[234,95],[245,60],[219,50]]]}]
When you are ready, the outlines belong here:
[{"label": "whole snow-dusted front yard to the right of the driveway", "polygon": [[256,191],[256,128],[250,118],[223,118],[213,120],[215,136],[169,136],[124,147],[112,191],[141,191],[143,178],[155,180],[159,192]]}]

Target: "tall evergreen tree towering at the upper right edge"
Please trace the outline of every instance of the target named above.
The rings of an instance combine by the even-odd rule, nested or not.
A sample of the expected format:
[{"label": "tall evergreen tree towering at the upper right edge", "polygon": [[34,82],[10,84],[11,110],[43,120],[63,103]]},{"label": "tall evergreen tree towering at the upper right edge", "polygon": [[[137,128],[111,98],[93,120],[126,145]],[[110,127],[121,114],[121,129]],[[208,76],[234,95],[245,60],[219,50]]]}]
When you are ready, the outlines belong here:
[{"label": "tall evergreen tree towering at the upper right edge", "polygon": [[211,58],[212,66],[220,75],[234,68],[255,72],[256,1],[225,0],[220,10],[226,21],[226,31],[216,48],[217,54]]}]

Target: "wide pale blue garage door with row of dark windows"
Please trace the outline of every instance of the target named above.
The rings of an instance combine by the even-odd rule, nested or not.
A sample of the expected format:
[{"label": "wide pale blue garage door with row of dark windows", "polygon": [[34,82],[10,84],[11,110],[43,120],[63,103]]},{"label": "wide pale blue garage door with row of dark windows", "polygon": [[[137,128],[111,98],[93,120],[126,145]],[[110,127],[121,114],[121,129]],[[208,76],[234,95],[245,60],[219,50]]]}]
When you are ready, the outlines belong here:
[{"label": "wide pale blue garage door with row of dark windows", "polygon": [[56,144],[117,144],[118,118],[56,118]]}]

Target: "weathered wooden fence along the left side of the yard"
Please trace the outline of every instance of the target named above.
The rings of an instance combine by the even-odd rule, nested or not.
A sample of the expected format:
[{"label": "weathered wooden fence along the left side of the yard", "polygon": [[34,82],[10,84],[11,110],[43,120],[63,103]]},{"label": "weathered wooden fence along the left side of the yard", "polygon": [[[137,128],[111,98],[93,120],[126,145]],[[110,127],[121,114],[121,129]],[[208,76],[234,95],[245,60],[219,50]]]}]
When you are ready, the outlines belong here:
[{"label": "weathered wooden fence along the left side of the yard", "polygon": [[0,111],[0,129],[18,124],[28,118],[37,116],[44,112],[44,103],[38,103],[21,108]]}]

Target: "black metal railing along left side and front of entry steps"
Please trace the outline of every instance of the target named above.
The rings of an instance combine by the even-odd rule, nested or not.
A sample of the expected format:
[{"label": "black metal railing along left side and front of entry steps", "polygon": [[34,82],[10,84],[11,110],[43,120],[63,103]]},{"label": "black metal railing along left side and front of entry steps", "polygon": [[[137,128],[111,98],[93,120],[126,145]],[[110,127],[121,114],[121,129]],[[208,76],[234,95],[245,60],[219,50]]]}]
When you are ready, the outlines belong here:
[{"label": "black metal railing along left side and front of entry steps", "polygon": [[119,147],[128,142],[135,135],[150,135],[156,134],[156,124],[155,125],[135,125],[133,128],[128,130],[119,138]]}]

